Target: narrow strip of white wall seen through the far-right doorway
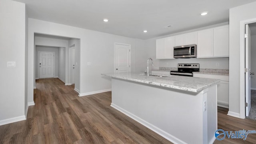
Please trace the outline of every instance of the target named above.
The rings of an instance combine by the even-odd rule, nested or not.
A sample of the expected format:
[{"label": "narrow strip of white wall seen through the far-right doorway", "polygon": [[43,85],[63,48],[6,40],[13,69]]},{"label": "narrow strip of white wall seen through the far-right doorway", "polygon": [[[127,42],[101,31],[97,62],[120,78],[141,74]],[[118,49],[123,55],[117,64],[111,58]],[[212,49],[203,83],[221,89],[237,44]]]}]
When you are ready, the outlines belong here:
[{"label": "narrow strip of white wall seen through the far-right doorway", "polygon": [[251,36],[251,88],[256,90],[256,35]]}]

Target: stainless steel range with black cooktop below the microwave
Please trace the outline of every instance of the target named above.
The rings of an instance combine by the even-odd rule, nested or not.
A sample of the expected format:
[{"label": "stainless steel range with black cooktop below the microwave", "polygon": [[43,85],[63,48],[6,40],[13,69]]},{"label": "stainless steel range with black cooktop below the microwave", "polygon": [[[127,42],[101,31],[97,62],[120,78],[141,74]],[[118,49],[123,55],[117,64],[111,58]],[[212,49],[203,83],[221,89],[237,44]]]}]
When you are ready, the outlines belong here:
[{"label": "stainless steel range with black cooktop below the microwave", "polygon": [[199,72],[199,64],[178,64],[178,70],[171,70],[171,75],[193,76],[193,72]]}]

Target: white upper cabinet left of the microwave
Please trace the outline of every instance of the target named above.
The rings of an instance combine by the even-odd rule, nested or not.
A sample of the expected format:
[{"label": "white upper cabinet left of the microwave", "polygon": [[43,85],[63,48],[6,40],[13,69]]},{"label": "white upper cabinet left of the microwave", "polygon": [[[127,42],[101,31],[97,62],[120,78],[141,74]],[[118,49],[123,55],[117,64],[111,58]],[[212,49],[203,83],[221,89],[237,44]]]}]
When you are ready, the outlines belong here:
[{"label": "white upper cabinet left of the microwave", "polygon": [[160,38],[156,40],[156,59],[173,58],[174,37]]}]

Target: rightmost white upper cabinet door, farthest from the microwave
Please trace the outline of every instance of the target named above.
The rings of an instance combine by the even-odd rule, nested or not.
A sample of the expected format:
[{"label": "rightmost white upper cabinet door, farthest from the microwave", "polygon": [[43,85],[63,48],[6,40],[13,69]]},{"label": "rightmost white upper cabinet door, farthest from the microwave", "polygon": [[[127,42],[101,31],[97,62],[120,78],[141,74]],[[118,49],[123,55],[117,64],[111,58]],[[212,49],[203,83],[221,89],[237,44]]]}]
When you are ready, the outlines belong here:
[{"label": "rightmost white upper cabinet door, farthest from the microwave", "polygon": [[220,26],[213,29],[213,56],[229,56],[229,27]]}]

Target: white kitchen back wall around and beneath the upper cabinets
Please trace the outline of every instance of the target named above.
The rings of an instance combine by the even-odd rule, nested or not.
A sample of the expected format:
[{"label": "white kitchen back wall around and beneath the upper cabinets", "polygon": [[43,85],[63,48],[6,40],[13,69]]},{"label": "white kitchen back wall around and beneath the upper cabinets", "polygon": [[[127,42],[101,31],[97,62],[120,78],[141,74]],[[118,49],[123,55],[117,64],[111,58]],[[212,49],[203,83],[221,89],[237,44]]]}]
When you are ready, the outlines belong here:
[{"label": "white kitchen back wall around and beneath the upper cabinets", "polygon": [[[179,58],[179,59],[173,59],[173,60],[156,60],[156,39],[164,38],[164,37],[168,37],[168,36],[174,36],[174,35],[178,35],[178,34],[184,34],[184,33],[188,33],[188,32],[195,32],[198,30],[204,30],[207,28],[213,28],[213,27],[222,26],[222,25],[226,25],[226,24],[228,24],[228,23],[216,24],[216,25],[212,25],[212,26],[199,28],[199,29],[189,30],[189,31],[185,31],[185,32],[179,32],[176,34],[170,34],[170,35],[166,35],[166,36],[161,36],[161,37],[145,40],[144,52],[146,52],[148,54],[148,56],[147,56],[148,58],[151,57],[154,60],[153,69],[158,69],[158,67],[175,67],[176,68],[178,63],[199,63],[200,68],[228,69],[229,58],[183,58],[183,59]],[[146,68],[146,60],[144,60],[144,63],[145,63],[145,68]],[[218,63],[218,64],[216,64],[216,63]]]}]

